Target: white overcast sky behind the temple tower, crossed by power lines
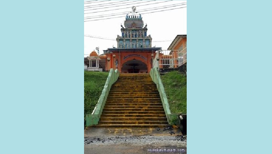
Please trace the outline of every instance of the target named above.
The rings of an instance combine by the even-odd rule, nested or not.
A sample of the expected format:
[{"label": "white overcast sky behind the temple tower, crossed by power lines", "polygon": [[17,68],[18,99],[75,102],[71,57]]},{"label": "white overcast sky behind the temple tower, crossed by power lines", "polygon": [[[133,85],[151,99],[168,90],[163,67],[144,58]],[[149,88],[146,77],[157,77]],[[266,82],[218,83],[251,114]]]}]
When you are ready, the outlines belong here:
[{"label": "white overcast sky behind the temple tower, crossed by power lines", "polygon": [[[84,6],[91,7],[91,8],[84,7],[85,8],[84,10],[87,10],[87,11],[84,11],[84,13],[104,11],[104,12],[98,12],[98,13],[84,14],[84,17],[91,18],[91,19],[85,19],[84,21],[102,19],[102,18],[93,18],[94,16],[99,17],[97,15],[105,15],[105,14],[115,15],[114,13],[130,12],[132,11],[131,7],[136,6],[136,12],[139,10],[139,13],[142,14],[142,20],[144,21],[144,26],[147,24],[147,35],[150,34],[152,37],[152,47],[155,47],[155,46],[162,47],[162,50],[167,50],[169,45],[175,39],[176,35],[187,34],[187,7],[185,7],[187,5],[180,4],[180,3],[186,4],[184,2],[187,2],[187,1],[180,1],[180,0],[172,0],[169,2],[165,2],[167,0],[159,0],[159,1],[157,0],[152,2],[147,2],[147,1],[151,1],[151,0],[142,0],[142,1],[130,0],[130,1],[123,1],[123,2],[121,2],[121,0],[116,0],[116,1],[99,0],[99,1],[91,1],[91,3],[88,1],[84,1],[86,3],[86,4],[84,3]],[[109,4],[110,2],[111,4]],[[115,2],[115,3],[112,3],[112,2]],[[137,3],[137,4],[133,4],[133,3]],[[146,5],[146,4],[151,4],[151,5]],[[172,4],[177,4],[181,6],[175,6]],[[108,6],[105,6],[105,5],[108,5]],[[172,5],[175,7],[169,7],[169,5]],[[163,8],[159,6],[164,6],[168,8]],[[105,8],[105,7],[109,7],[109,8]],[[130,7],[130,8],[126,8],[126,7]],[[155,7],[159,7],[159,8],[155,8]],[[174,9],[179,7],[185,7],[185,8]],[[104,9],[98,9],[98,8],[104,8]],[[126,9],[123,9],[123,8],[126,8]],[[163,8],[163,9],[160,9],[160,8]],[[93,9],[97,9],[97,10],[93,10]],[[120,10],[117,10],[117,9],[120,9]],[[174,9],[174,10],[169,10],[169,9]],[[105,10],[111,10],[111,11],[105,11]],[[144,11],[144,10],[150,10],[150,11]],[[159,10],[167,10],[167,11],[148,13],[148,12],[154,12]],[[143,13],[148,13],[148,14],[143,14]],[[96,39],[96,38],[84,36],[84,54],[87,54],[87,55],[84,55],[84,57],[87,57],[91,53],[91,51],[94,51],[96,49],[96,47],[99,47],[100,55],[103,54],[103,50],[107,50],[107,48],[112,48],[113,46],[117,47],[116,38],[117,38],[117,35],[122,35],[121,24],[124,26],[126,14],[128,13],[123,13],[122,15],[104,17],[104,18],[111,18],[111,17],[123,16],[122,18],[112,18],[112,19],[84,22],[84,35],[87,34],[91,36],[114,39],[113,41],[113,40]],[[154,42],[154,41],[165,41],[165,40],[167,42]],[[171,40],[171,41],[168,41],[168,40]]]}]

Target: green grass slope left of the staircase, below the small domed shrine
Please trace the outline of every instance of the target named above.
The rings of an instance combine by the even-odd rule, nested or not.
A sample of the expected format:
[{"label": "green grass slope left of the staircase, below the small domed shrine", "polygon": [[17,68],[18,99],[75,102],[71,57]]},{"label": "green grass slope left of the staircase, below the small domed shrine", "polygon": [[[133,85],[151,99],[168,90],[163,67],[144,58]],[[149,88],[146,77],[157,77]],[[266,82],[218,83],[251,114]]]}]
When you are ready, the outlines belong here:
[{"label": "green grass slope left of the staircase, below the small domed shrine", "polygon": [[84,71],[84,117],[95,108],[107,77],[108,72]]}]

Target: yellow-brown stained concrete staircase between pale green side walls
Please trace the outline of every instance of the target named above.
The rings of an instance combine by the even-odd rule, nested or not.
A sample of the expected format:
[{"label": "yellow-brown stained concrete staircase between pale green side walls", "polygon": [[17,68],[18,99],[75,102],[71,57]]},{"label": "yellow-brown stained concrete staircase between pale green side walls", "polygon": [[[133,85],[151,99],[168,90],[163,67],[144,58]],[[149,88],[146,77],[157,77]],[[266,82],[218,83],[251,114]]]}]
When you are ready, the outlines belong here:
[{"label": "yellow-brown stained concrete staircase between pale green side walls", "polygon": [[95,127],[166,127],[156,84],[147,73],[120,74]]}]

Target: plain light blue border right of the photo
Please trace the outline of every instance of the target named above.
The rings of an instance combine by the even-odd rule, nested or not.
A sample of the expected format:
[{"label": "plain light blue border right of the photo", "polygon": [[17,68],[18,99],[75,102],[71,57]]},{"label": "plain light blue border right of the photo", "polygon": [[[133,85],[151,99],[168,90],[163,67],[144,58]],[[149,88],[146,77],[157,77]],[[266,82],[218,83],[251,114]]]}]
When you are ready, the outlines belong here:
[{"label": "plain light blue border right of the photo", "polygon": [[271,153],[271,6],[188,1],[188,154]]}]

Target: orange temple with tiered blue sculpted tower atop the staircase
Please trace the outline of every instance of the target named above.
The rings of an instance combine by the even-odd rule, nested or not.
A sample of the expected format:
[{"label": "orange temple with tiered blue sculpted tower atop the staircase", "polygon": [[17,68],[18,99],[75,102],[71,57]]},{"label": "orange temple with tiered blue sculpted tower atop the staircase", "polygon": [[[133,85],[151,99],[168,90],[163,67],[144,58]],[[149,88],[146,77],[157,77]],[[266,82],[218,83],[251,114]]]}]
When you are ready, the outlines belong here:
[{"label": "orange temple with tiered blue sculpted tower atop the staircase", "polygon": [[[161,50],[161,47],[152,47],[147,24],[143,26],[142,16],[136,14],[135,10],[135,7],[132,8],[132,13],[125,17],[124,26],[121,24],[121,33],[116,38],[117,47],[108,48],[99,56],[99,65],[103,71],[113,68],[121,73],[147,73],[152,68],[155,52]],[[88,61],[84,59],[84,65],[89,66]]]}]

